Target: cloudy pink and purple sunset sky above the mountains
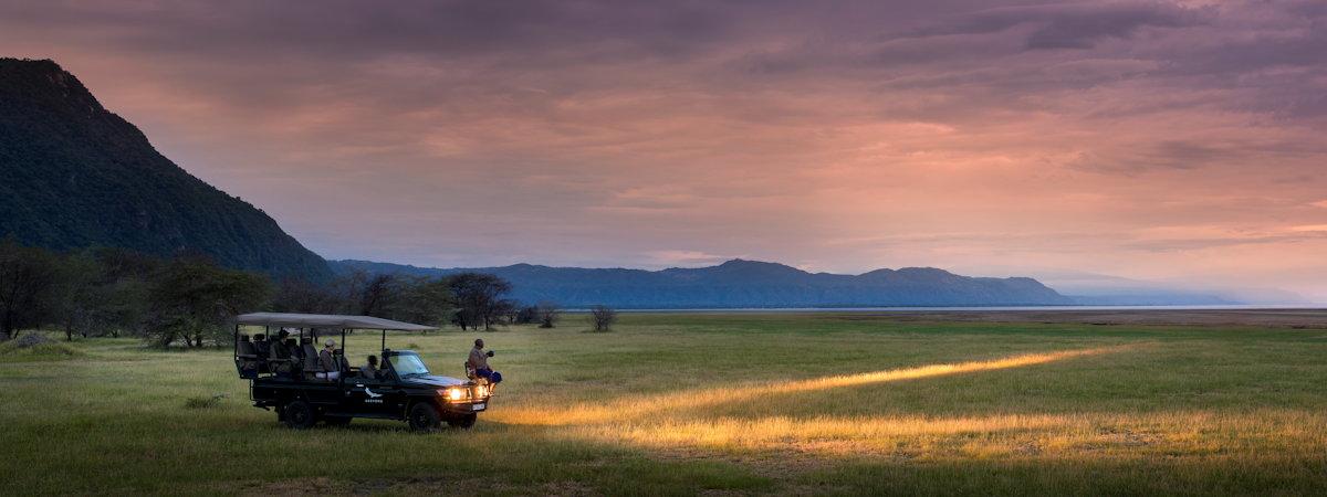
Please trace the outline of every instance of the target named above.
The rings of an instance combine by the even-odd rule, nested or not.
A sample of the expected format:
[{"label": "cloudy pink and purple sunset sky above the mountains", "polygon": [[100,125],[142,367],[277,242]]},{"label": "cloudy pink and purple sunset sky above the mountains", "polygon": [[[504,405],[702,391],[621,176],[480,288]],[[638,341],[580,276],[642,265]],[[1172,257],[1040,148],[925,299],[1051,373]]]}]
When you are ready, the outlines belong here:
[{"label": "cloudy pink and purple sunset sky above the mountains", "polygon": [[328,258],[1327,302],[1327,1],[11,1]]}]

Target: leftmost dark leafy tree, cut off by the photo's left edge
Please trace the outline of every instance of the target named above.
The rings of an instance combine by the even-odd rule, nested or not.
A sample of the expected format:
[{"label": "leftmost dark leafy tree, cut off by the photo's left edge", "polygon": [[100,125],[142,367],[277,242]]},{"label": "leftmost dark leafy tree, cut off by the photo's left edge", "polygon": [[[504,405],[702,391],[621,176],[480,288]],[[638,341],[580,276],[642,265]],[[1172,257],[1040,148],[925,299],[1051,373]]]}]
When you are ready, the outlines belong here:
[{"label": "leftmost dark leafy tree, cut off by the photo's left edge", "polygon": [[58,265],[38,248],[0,241],[0,341],[52,315]]}]

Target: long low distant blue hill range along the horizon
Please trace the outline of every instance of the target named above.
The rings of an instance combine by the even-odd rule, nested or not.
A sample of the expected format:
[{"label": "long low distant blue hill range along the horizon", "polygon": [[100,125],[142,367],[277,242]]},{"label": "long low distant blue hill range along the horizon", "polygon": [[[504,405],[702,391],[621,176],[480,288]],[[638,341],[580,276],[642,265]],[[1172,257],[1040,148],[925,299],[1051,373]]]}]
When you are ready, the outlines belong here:
[{"label": "long low distant blue hill range along the horizon", "polygon": [[1072,305],[1032,278],[979,278],[934,268],[877,269],[864,274],[808,273],[783,264],[731,260],[710,268],[585,269],[516,264],[502,268],[418,268],[370,261],[329,261],[333,272],[439,277],[496,274],[512,298],[564,307],[618,309],[877,307]]}]

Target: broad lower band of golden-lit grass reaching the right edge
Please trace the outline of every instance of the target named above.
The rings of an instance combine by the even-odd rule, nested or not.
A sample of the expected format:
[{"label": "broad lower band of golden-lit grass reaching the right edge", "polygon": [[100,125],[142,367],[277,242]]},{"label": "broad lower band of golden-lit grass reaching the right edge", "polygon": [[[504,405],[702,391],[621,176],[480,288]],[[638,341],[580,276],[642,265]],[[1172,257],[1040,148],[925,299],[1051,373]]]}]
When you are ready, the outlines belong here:
[{"label": "broad lower band of golden-lit grass reaching the right edge", "polygon": [[[565,432],[604,443],[682,452],[751,452],[779,457],[1080,459],[1315,456],[1327,448],[1327,415],[1253,414],[1005,415],[986,417],[760,417],[658,420]],[[1235,437],[1227,437],[1237,435]],[[805,460],[805,457],[800,457]]]}]

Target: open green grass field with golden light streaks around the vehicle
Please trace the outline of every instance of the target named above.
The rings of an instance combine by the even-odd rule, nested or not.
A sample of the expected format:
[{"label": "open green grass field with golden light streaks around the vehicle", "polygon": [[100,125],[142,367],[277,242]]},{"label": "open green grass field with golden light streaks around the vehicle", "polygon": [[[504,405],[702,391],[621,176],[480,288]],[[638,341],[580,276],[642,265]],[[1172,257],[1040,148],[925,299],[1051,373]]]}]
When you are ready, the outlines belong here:
[{"label": "open green grass field with golden light streaks around the vehicle", "polygon": [[[1327,330],[628,314],[482,335],[471,431],[293,432],[228,351],[0,357],[3,493],[1323,494]],[[398,334],[459,375],[475,333]],[[348,345],[354,362],[377,335]],[[215,399],[215,400],[214,400]]]}]

